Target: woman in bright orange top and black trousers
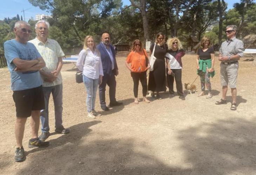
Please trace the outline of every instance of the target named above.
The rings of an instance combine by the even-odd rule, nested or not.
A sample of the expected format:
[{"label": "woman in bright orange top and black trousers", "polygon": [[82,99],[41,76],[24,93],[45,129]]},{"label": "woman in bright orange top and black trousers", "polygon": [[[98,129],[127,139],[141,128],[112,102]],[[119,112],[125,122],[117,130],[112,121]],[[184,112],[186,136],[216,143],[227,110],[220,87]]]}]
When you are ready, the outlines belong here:
[{"label": "woman in bright orange top and black trousers", "polygon": [[[149,100],[146,98],[147,94],[147,69],[149,68],[149,60],[147,60],[146,67],[146,59],[148,59],[147,52],[145,49],[142,49],[142,43],[140,40],[135,40],[133,42],[132,51],[127,56],[125,65],[131,71],[131,76],[133,77],[133,93],[134,93],[134,103],[139,104],[138,101],[138,87],[139,80],[142,85],[142,94],[143,94],[143,102],[149,103]],[[130,64],[130,65],[129,65]]]}]

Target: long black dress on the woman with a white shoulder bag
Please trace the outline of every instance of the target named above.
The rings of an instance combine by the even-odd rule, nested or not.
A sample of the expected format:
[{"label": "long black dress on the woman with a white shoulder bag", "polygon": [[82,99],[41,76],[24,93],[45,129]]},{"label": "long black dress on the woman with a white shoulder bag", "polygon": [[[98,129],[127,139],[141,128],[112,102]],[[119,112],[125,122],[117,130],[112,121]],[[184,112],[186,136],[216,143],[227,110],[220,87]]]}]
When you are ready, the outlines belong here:
[{"label": "long black dress on the woman with a white shoulder bag", "polygon": [[[153,52],[154,44],[151,44],[150,50]],[[154,63],[154,70],[149,72],[148,90],[153,92],[166,91],[166,69],[165,69],[165,54],[167,52],[167,45],[159,46],[156,44],[154,56],[156,61]]]}]

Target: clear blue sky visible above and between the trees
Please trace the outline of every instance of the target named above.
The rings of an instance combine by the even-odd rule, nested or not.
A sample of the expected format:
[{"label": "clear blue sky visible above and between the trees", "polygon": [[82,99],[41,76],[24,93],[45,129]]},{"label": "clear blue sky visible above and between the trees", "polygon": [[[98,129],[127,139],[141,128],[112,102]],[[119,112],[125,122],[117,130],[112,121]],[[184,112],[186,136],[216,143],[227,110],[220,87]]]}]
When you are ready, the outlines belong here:
[{"label": "clear blue sky visible above and between the trees", "polygon": [[[233,4],[236,2],[240,2],[240,0],[225,0],[228,3],[228,9],[233,8]],[[28,0],[0,0],[0,20],[4,20],[4,18],[13,18],[17,14],[19,14],[20,18],[24,20],[23,9],[25,11],[26,21],[33,17],[35,19],[36,14],[45,14],[50,15],[50,13],[41,10],[39,7],[32,6]],[[130,5],[129,0],[123,0],[123,5]]]}]

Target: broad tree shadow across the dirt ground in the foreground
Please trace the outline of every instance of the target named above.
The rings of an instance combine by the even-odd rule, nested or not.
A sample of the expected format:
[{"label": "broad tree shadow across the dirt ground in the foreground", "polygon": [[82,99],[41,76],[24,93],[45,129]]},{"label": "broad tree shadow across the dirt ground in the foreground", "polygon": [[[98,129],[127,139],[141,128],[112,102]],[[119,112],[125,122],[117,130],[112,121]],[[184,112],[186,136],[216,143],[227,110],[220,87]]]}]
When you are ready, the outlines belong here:
[{"label": "broad tree shadow across the dirt ground in the foreground", "polygon": [[[152,138],[144,144],[135,144],[139,141],[126,138],[104,139],[102,135],[98,140],[87,140],[84,136],[90,132],[88,126],[98,122],[76,125],[72,135],[50,140],[52,146],[37,156],[29,156],[27,160],[32,163],[16,174],[28,171],[35,174],[38,169],[43,174],[99,175],[248,175],[256,172],[255,121],[231,118],[174,131],[182,152],[179,159],[184,161],[180,167],[163,162],[161,154],[154,154],[159,148],[150,145]],[[166,141],[162,146],[169,144],[172,143]],[[138,151],[138,147],[143,151]],[[171,157],[171,152],[168,150],[165,154]],[[173,158],[172,162],[175,161]]]}]

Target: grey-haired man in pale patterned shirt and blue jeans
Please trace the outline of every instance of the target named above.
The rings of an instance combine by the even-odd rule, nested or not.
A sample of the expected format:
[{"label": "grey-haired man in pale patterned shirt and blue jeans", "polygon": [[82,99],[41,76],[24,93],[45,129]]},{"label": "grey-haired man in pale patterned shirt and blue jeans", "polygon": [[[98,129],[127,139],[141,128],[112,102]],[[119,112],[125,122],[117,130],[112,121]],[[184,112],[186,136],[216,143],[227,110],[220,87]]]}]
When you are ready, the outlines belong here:
[{"label": "grey-haired man in pale patterned shirt and blue jeans", "polygon": [[45,110],[41,111],[42,134],[41,140],[46,140],[49,133],[49,97],[52,93],[55,112],[55,132],[66,134],[70,130],[62,125],[62,77],[60,70],[62,68],[62,57],[65,56],[59,43],[55,40],[47,39],[49,23],[40,20],[35,25],[36,38],[29,42],[33,43],[42,55],[46,66],[40,70],[43,80],[43,94],[45,98]]}]

